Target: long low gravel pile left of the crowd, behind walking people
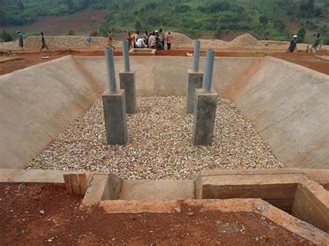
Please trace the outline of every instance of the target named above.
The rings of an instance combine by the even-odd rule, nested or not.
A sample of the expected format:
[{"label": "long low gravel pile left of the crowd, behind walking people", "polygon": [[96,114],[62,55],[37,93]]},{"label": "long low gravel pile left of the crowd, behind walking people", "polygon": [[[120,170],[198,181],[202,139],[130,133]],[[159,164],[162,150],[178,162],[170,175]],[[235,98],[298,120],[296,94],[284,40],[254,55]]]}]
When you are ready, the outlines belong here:
[{"label": "long low gravel pile left of the crowd, behind walking people", "polygon": [[[45,36],[46,43],[49,48],[103,48],[108,45],[107,37],[92,37],[92,43],[87,42],[87,37],[82,36]],[[30,36],[24,40],[24,44],[28,49],[40,49],[40,37]],[[114,41],[114,46],[118,46],[119,42]]]}]

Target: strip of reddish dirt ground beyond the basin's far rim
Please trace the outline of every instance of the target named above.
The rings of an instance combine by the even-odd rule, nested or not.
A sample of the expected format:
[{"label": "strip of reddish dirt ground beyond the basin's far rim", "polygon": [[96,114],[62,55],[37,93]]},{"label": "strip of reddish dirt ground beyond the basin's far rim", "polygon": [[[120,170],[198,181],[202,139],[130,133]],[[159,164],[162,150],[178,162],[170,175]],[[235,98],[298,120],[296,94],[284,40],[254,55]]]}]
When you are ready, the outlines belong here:
[{"label": "strip of reddish dirt ground beyond the basin's far rim", "polygon": [[[171,51],[167,51],[167,50],[157,51],[156,55],[189,56],[189,54],[192,53],[193,53],[193,49],[191,48],[185,48],[185,49],[180,48],[180,49],[172,49]],[[12,55],[20,56],[22,57],[22,60],[0,63],[0,75],[10,73],[12,71],[16,71],[19,69],[23,69],[25,67],[29,67],[41,62],[47,62],[49,60],[60,58],[62,56],[69,54],[94,56],[94,55],[104,55],[104,52],[101,49],[54,49],[49,52],[15,51],[15,53],[13,53]],[[8,53],[0,52],[0,58],[8,57],[7,55]],[[119,49],[116,49],[115,55],[122,55],[122,53]],[[329,62],[317,58],[316,55],[318,54],[304,53],[304,52],[286,53],[284,51],[273,51],[273,50],[267,51],[266,49],[253,50],[253,49],[243,49],[243,48],[218,50],[216,52],[217,57],[260,57],[264,55],[271,55],[275,58],[300,64],[304,67],[308,67],[315,71],[319,71],[321,73],[326,73],[329,75]],[[329,51],[322,52],[321,55],[329,55]],[[42,57],[45,56],[48,56],[49,59],[42,59]],[[205,51],[201,51],[201,56],[205,56]]]}]

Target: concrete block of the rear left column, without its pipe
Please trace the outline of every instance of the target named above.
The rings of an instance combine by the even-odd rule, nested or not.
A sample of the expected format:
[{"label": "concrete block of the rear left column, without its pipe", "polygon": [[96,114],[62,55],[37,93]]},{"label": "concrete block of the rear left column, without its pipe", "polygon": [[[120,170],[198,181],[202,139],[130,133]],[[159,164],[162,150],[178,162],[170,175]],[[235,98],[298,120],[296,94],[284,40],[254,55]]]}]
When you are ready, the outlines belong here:
[{"label": "concrete block of the rear left column, without its pipe", "polygon": [[126,112],[133,114],[137,110],[135,71],[121,71],[119,78],[120,88],[126,92]]}]

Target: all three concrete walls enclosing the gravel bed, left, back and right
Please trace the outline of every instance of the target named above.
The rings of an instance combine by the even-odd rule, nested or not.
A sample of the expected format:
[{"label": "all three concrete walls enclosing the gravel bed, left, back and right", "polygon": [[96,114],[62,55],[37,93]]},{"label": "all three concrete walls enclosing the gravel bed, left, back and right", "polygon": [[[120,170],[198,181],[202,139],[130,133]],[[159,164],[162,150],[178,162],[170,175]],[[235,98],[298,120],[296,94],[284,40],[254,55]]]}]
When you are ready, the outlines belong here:
[{"label": "all three concrete walls enclosing the gravel bed, left, back and right", "polygon": [[[118,77],[121,58],[115,66]],[[132,57],[130,67],[138,95],[185,95],[192,58]],[[0,76],[0,167],[38,155],[101,96],[106,77],[103,57],[71,56]],[[275,58],[216,58],[213,88],[285,166],[329,168],[329,76]]]}]

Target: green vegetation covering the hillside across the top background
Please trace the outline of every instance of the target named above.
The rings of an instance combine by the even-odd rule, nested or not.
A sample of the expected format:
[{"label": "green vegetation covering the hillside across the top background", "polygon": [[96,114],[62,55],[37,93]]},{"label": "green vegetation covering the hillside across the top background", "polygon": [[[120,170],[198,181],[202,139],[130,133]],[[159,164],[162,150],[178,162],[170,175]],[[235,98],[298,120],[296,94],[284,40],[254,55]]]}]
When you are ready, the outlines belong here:
[{"label": "green vegetation covering the hillside across the top background", "polygon": [[[99,35],[115,30],[173,30],[190,37],[246,31],[258,39],[285,40],[290,22],[329,34],[328,0],[0,0],[0,25],[24,25],[47,15],[84,8],[108,10]],[[93,24],[93,27],[94,24]]]}]

